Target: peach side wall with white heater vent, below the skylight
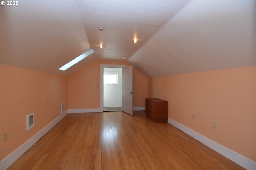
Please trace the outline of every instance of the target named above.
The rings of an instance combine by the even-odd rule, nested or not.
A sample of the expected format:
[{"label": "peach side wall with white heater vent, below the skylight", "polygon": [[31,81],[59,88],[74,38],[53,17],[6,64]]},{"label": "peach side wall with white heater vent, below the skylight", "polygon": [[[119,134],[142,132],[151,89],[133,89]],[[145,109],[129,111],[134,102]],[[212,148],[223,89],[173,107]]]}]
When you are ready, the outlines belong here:
[{"label": "peach side wall with white heater vent, below the skylight", "polygon": [[[68,77],[0,64],[0,162],[68,109]],[[26,115],[34,127],[26,130]]]}]

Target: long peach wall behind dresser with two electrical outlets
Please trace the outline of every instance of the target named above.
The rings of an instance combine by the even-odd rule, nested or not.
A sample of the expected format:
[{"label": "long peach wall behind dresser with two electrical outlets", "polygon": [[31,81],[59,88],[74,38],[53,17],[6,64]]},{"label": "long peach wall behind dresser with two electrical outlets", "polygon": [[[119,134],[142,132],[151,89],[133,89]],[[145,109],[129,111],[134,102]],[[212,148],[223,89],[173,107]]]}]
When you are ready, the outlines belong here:
[{"label": "long peach wall behind dresser with two electrical outlets", "polygon": [[168,100],[171,119],[256,161],[256,67],[149,78],[148,96]]}]

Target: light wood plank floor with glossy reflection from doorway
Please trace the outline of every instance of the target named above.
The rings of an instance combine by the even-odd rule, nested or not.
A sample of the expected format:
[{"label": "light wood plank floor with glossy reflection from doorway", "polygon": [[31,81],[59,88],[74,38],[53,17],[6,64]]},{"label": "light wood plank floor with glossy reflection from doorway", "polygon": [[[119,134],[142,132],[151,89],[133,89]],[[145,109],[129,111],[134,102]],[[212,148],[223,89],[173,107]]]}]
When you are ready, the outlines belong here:
[{"label": "light wood plank floor with glossy reflection from doorway", "polygon": [[240,170],[144,111],[69,113],[8,170]]}]

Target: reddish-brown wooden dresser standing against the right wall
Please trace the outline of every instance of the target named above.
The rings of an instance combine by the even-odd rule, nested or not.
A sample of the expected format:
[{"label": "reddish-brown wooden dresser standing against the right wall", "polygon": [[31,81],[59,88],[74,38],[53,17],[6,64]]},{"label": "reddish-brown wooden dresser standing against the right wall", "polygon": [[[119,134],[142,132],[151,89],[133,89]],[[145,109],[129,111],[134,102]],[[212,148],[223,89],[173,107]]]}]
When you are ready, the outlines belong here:
[{"label": "reddish-brown wooden dresser standing against the right wall", "polygon": [[158,98],[146,98],[146,117],[155,123],[167,122],[168,101]]}]

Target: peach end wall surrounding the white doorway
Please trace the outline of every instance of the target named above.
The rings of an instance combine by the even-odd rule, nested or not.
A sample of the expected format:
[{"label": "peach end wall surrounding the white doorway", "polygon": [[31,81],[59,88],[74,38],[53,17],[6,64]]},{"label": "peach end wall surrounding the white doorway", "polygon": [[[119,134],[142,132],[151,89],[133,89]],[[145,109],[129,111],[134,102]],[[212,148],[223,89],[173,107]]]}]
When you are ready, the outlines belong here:
[{"label": "peach end wall surrounding the white doorway", "polygon": [[[69,109],[100,108],[100,64],[110,60],[94,60],[68,77]],[[130,64],[114,61],[116,65]],[[99,85],[99,86],[98,86]],[[144,107],[148,93],[148,78],[134,68],[134,107]]]}]

